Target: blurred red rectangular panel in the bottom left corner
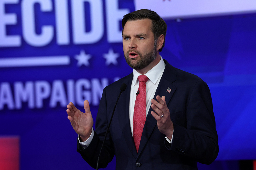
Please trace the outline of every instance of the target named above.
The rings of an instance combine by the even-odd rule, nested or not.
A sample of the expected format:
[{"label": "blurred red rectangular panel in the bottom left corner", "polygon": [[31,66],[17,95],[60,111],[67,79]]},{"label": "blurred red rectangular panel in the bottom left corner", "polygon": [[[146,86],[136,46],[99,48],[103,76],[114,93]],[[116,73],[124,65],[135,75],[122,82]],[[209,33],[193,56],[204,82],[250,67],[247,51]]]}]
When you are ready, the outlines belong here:
[{"label": "blurred red rectangular panel in the bottom left corner", "polygon": [[19,137],[0,137],[0,169],[19,170]]}]

